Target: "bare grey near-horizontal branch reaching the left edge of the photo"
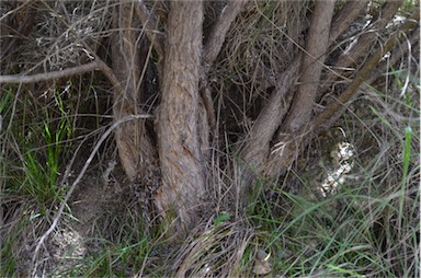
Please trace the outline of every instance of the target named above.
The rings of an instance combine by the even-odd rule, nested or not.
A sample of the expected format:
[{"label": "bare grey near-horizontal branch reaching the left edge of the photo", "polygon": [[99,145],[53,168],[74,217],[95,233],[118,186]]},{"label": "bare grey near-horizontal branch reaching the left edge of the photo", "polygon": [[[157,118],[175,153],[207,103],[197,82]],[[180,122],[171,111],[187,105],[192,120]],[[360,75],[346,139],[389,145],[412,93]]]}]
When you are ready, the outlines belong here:
[{"label": "bare grey near-horizontal branch reaching the left edge of the photo", "polygon": [[84,73],[87,71],[98,70],[99,68],[100,67],[98,61],[91,61],[86,65],[64,69],[60,71],[44,72],[44,73],[37,73],[33,76],[25,76],[25,74],[0,76],[0,83],[21,83],[21,84],[36,83],[41,81],[68,78],[71,76]]}]

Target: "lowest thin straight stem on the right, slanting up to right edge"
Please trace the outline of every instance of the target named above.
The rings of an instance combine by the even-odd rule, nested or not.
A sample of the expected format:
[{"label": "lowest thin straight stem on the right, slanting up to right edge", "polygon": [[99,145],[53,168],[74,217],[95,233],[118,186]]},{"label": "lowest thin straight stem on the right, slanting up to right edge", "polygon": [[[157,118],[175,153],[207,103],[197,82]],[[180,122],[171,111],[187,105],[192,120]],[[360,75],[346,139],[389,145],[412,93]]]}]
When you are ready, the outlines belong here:
[{"label": "lowest thin straight stem on the right, slanting up to right edge", "polygon": [[352,83],[348,86],[348,89],[338,97],[338,102],[334,102],[332,105],[330,105],[327,109],[325,109],[314,121],[312,127],[318,128],[322,126],[325,123],[327,123],[330,117],[333,116],[337,112],[339,112],[342,108],[342,104],[346,103],[351,100],[351,97],[357,92],[357,89],[361,86],[361,84],[366,80],[367,76],[373,71],[373,69],[378,65],[380,59],[390,51],[396,43],[402,40],[405,38],[405,35],[402,32],[410,31],[418,25],[418,22],[420,20],[420,11],[416,11],[410,19],[407,20],[407,22],[403,24],[401,30],[398,30],[394,33],[394,35],[386,42],[384,47],[378,49],[372,58],[369,58],[364,67],[359,71],[359,74],[352,81]]}]

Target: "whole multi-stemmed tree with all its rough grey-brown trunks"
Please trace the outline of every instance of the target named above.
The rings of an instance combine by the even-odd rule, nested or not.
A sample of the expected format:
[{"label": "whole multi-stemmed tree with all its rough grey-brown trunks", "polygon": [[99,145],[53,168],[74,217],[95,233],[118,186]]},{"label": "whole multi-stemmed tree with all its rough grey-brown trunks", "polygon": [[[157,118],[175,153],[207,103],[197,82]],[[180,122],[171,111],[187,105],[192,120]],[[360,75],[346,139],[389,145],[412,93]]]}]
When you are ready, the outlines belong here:
[{"label": "whole multi-stemmed tree with all its rough grey-brown trunks", "polygon": [[[332,123],[331,118],[337,117],[343,105],[341,102],[357,92],[384,54],[401,38],[392,36],[389,45],[377,47],[371,63],[359,65],[356,74],[346,76],[338,69],[356,69],[359,59],[369,59],[365,51],[374,43],[374,33],[361,36],[346,54],[341,53],[333,62],[330,57],[330,65],[327,65],[339,35],[367,3],[349,1],[337,14],[333,13],[334,0],[301,7],[311,11],[309,23],[301,24],[298,30],[306,34],[305,43],[297,46],[289,66],[275,71],[272,80],[276,81],[268,85],[274,89],[269,102],[232,154],[239,158],[236,169],[240,176],[240,196],[244,197],[247,188],[259,176],[275,177],[291,166],[314,132]],[[373,30],[384,28],[401,3],[386,2]],[[149,123],[149,129],[146,128],[145,120],[126,123],[116,131],[116,140],[127,175],[140,190],[153,197],[159,213],[175,221],[175,230],[182,232],[198,219],[203,209],[207,169],[212,163],[209,148],[217,135],[208,72],[244,2],[227,2],[206,33],[202,1],[158,4],[148,9],[141,1],[127,2],[114,11],[113,22],[118,32],[114,35],[112,60],[122,84],[115,90],[114,116],[151,113],[145,105],[148,68],[156,67],[160,83],[153,127]],[[412,21],[407,30],[416,25]],[[164,31],[163,35],[160,30]],[[342,91],[344,94],[337,94],[340,102],[327,103],[323,112],[315,115],[318,99],[332,82],[340,80],[349,84],[349,89]],[[156,142],[151,134],[156,135]]]}]

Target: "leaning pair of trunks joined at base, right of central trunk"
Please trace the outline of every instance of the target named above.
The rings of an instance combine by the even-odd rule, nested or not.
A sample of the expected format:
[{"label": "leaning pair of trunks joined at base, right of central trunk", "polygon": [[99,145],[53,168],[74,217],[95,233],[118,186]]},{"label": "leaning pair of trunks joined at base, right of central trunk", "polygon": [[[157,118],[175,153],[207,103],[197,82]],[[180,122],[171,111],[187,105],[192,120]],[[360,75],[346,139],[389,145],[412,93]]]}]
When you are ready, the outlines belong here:
[{"label": "leaning pair of trunks joined at base, right of central trunk", "polygon": [[[247,187],[255,179],[253,173],[260,173],[269,177],[278,175],[294,161],[297,150],[300,149],[299,138],[283,138],[288,148],[283,155],[272,154],[272,141],[281,140],[278,129],[283,134],[293,134],[310,120],[312,107],[319,86],[321,71],[327,49],[329,47],[330,23],[333,16],[334,0],[317,1],[311,19],[309,37],[306,43],[306,53],[301,62],[295,59],[289,67],[278,77],[280,84],[271,96],[268,106],[259,115],[254,126],[247,138],[247,143],[240,152],[243,161],[238,170],[241,176],[241,187]],[[303,74],[299,79],[297,93],[293,103],[291,91],[299,67]],[[291,107],[289,107],[291,104]],[[284,119],[285,117],[285,119]],[[277,131],[278,132],[278,131]],[[292,148],[291,148],[292,147]],[[244,192],[247,188],[241,188]]]}]

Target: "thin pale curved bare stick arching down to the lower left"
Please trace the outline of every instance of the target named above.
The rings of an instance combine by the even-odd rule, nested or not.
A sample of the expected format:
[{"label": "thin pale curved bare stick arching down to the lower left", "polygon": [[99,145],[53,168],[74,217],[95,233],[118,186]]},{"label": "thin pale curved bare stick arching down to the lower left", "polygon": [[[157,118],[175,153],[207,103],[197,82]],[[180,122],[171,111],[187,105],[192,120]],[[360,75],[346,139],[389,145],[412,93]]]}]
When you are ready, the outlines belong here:
[{"label": "thin pale curved bare stick arching down to the lower left", "polygon": [[84,173],[87,172],[88,170],[88,166],[91,164],[93,158],[95,157],[98,150],[100,149],[101,144],[105,141],[105,139],[110,136],[110,134],[115,129],[117,128],[121,124],[124,124],[126,121],[129,121],[129,120],[134,120],[134,119],[145,119],[145,118],[153,118],[152,115],[149,115],[149,114],[145,114],[145,115],[130,115],[130,116],[126,116],[126,117],[123,117],[121,119],[118,119],[118,121],[114,123],[100,138],[100,140],[98,141],[98,143],[95,144],[95,148],[93,148],[91,154],[89,155],[87,162],[84,163],[82,170],[80,171],[78,177],[75,179],[75,182],[71,184],[71,187],[69,189],[69,192],[66,194],[66,197],[65,199],[61,201],[61,205],[57,211],[57,215],[56,217],[54,218],[53,220],[53,223],[52,225],[49,227],[49,229],[44,233],[44,235],[41,238],[38,244],[36,245],[36,248],[35,248],[35,252],[34,252],[34,255],[32,257],[32,264],[34,265],[35,264],[35,259],[38,255],[38,252],[39,252],[39,248],[41,246],[43,245],[44,241],[47,239],[47,236],[54,231],[54,229],[56,228],[57,223],[58,223],[58,220],[60,219],[61,215],[62,215],[62,211],[65,210],[65,207],[67,205],[67,201],[69,200],[71,194],[73,193],[76,186],[79,184],[79,182],[81,181],[81,178],[83,177]]}]

